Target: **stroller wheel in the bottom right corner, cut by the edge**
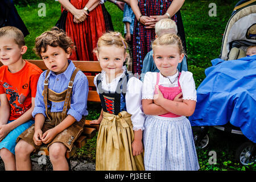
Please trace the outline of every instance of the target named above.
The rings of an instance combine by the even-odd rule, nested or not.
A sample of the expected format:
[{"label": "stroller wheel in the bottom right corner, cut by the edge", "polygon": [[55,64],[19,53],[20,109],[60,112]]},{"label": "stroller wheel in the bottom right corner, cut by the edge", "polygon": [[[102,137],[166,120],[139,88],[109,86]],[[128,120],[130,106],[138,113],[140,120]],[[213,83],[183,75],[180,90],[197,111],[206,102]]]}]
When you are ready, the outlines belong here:
[{"label": "stroller wheel in the bottom right corner, cut by the edge", "polygon": [[245,142],[237,148],[236,159],[243,165],[253,164],[256,160],[255,144],[252,142]]}]

